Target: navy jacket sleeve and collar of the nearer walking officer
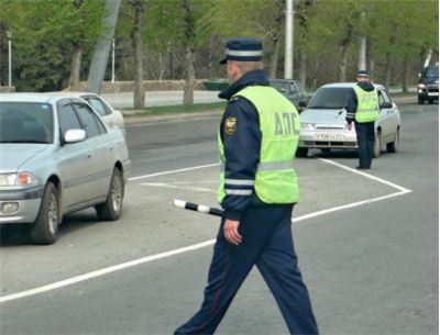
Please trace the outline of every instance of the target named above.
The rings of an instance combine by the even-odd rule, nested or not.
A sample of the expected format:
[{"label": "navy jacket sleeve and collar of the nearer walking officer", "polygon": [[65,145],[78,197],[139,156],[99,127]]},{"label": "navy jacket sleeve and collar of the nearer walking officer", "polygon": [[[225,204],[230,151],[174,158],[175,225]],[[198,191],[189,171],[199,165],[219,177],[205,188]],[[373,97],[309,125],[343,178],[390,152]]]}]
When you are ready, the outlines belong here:
[{"label": "navy jacket sleeve and collar of the nearer walking officer", "polygon": [[[255,107],[248,99],[234,97],[233,94],[246,86],[270,86],[263,70],[254,70],[245,74],[240,80],[228,87],[219,94],[219,98],[228,99],[228,105],[220,124],[220,137],[224,145],[227,164],[224,167],[226,179],[255,180],[256,168],[260,163],[260,147],[262,133],[260,130],[260,118]],[[226,121],[235,118],[233,132],[226,132]],[[230,119],[231,120],[231,119]],[[228,189],[249,190],[252,186],[228,185]],[[235,196],[227,194],[221,205],[226,217],[240,220],[241,213],[250,205],[263,204],[255,194]]]}]

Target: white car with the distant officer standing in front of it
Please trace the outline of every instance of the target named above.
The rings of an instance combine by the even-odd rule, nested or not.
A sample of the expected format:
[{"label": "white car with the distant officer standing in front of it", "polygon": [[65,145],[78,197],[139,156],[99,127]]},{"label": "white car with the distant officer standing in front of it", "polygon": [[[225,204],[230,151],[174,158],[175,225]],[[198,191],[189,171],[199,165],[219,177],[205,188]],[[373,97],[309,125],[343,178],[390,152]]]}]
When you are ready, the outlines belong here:
[{"label": "white car with the distant officer standing in front of it", "polygon": [[[299,115],[301,130],[298,157],[305,157],[311,148],[323,152],[331,149],[355,149],[358,139],[354,126],[346,126],[344,107],[355,82],[324,85],[318,89],[307,109]],[[400,137],[400,113],[382,85],[374,85],[380,97],[380,119],[375,122],[374,157],[381,155],[386,145],[389,153],[398,149]]]}]

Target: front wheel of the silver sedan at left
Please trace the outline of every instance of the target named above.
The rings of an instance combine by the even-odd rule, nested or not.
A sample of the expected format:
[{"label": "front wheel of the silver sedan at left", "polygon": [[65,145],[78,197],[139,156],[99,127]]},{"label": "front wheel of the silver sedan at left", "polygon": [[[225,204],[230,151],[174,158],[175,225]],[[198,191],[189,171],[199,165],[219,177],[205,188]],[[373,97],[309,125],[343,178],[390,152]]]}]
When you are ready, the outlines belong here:
[{"label": "front wheel of the silver sedan at left", "polygon": [[31,241],[34,244],[53,244],[56,241],[59,223],[58,189],[47,182],[44,190],[38,216],[31,227]]}]

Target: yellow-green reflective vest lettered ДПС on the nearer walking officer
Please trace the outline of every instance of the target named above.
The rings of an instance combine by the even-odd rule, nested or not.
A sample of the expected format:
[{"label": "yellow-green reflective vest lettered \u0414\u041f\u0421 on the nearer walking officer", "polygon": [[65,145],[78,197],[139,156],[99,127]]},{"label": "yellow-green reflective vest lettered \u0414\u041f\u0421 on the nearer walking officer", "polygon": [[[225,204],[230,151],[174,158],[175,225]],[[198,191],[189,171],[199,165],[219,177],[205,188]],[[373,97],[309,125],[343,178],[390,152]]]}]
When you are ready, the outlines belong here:
[{"label": "yellow-green reflective vest lettered \u0414\u041f\u0421 on the nearer walking officer", "polygon": [[[260,116],[262,143],[254,191],[265,203],[298,202],[299,188],[294,159],[300,120],[295,105],[276,89],[267,86],[249,86],[234,94],[237,96],[250,100]],[[226,157],[220,133],[218,137],[221,161],[218,200],[221,203],[226,197]]]}]

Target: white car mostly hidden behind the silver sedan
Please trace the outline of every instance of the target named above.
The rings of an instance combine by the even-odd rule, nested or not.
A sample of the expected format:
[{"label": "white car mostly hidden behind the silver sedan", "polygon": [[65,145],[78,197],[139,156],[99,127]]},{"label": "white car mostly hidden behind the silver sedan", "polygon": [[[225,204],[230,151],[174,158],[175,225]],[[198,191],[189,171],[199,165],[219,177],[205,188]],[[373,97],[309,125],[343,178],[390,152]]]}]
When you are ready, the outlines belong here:
[{"label": "white car mostly hidden behind the silver sedan", "polygon": [[125,123],[121,111],[114,110],[106,100],[100,96],[89,92],[47,92],[52,97],[63,96],[65,98],[81,98],[86,100],[102,118],[102,120],[110,126],[118,126],[122,131],[125,129]]}]

